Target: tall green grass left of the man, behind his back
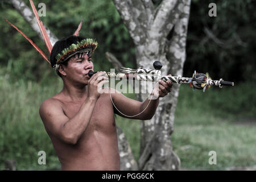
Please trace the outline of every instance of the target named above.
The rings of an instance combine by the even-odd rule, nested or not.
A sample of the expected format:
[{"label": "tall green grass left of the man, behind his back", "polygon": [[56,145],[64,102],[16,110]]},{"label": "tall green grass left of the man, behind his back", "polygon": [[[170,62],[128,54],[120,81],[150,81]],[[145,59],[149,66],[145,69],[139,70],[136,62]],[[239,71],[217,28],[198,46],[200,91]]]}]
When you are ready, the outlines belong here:
[{"label": "tall green grass left of the man, behind his back", "polygon": [[[59,78],[52,85],[43,87],[23,80],[10,84],[9,78],[0,77],[0,168],[5,168],[3,161],[6,159],[15,159],[19,170],[60,168],[39,116],[40,104],[59,92],[62,81]],[[38,152],[41,150],[47,154],[47,166],[38,164]]]}]

